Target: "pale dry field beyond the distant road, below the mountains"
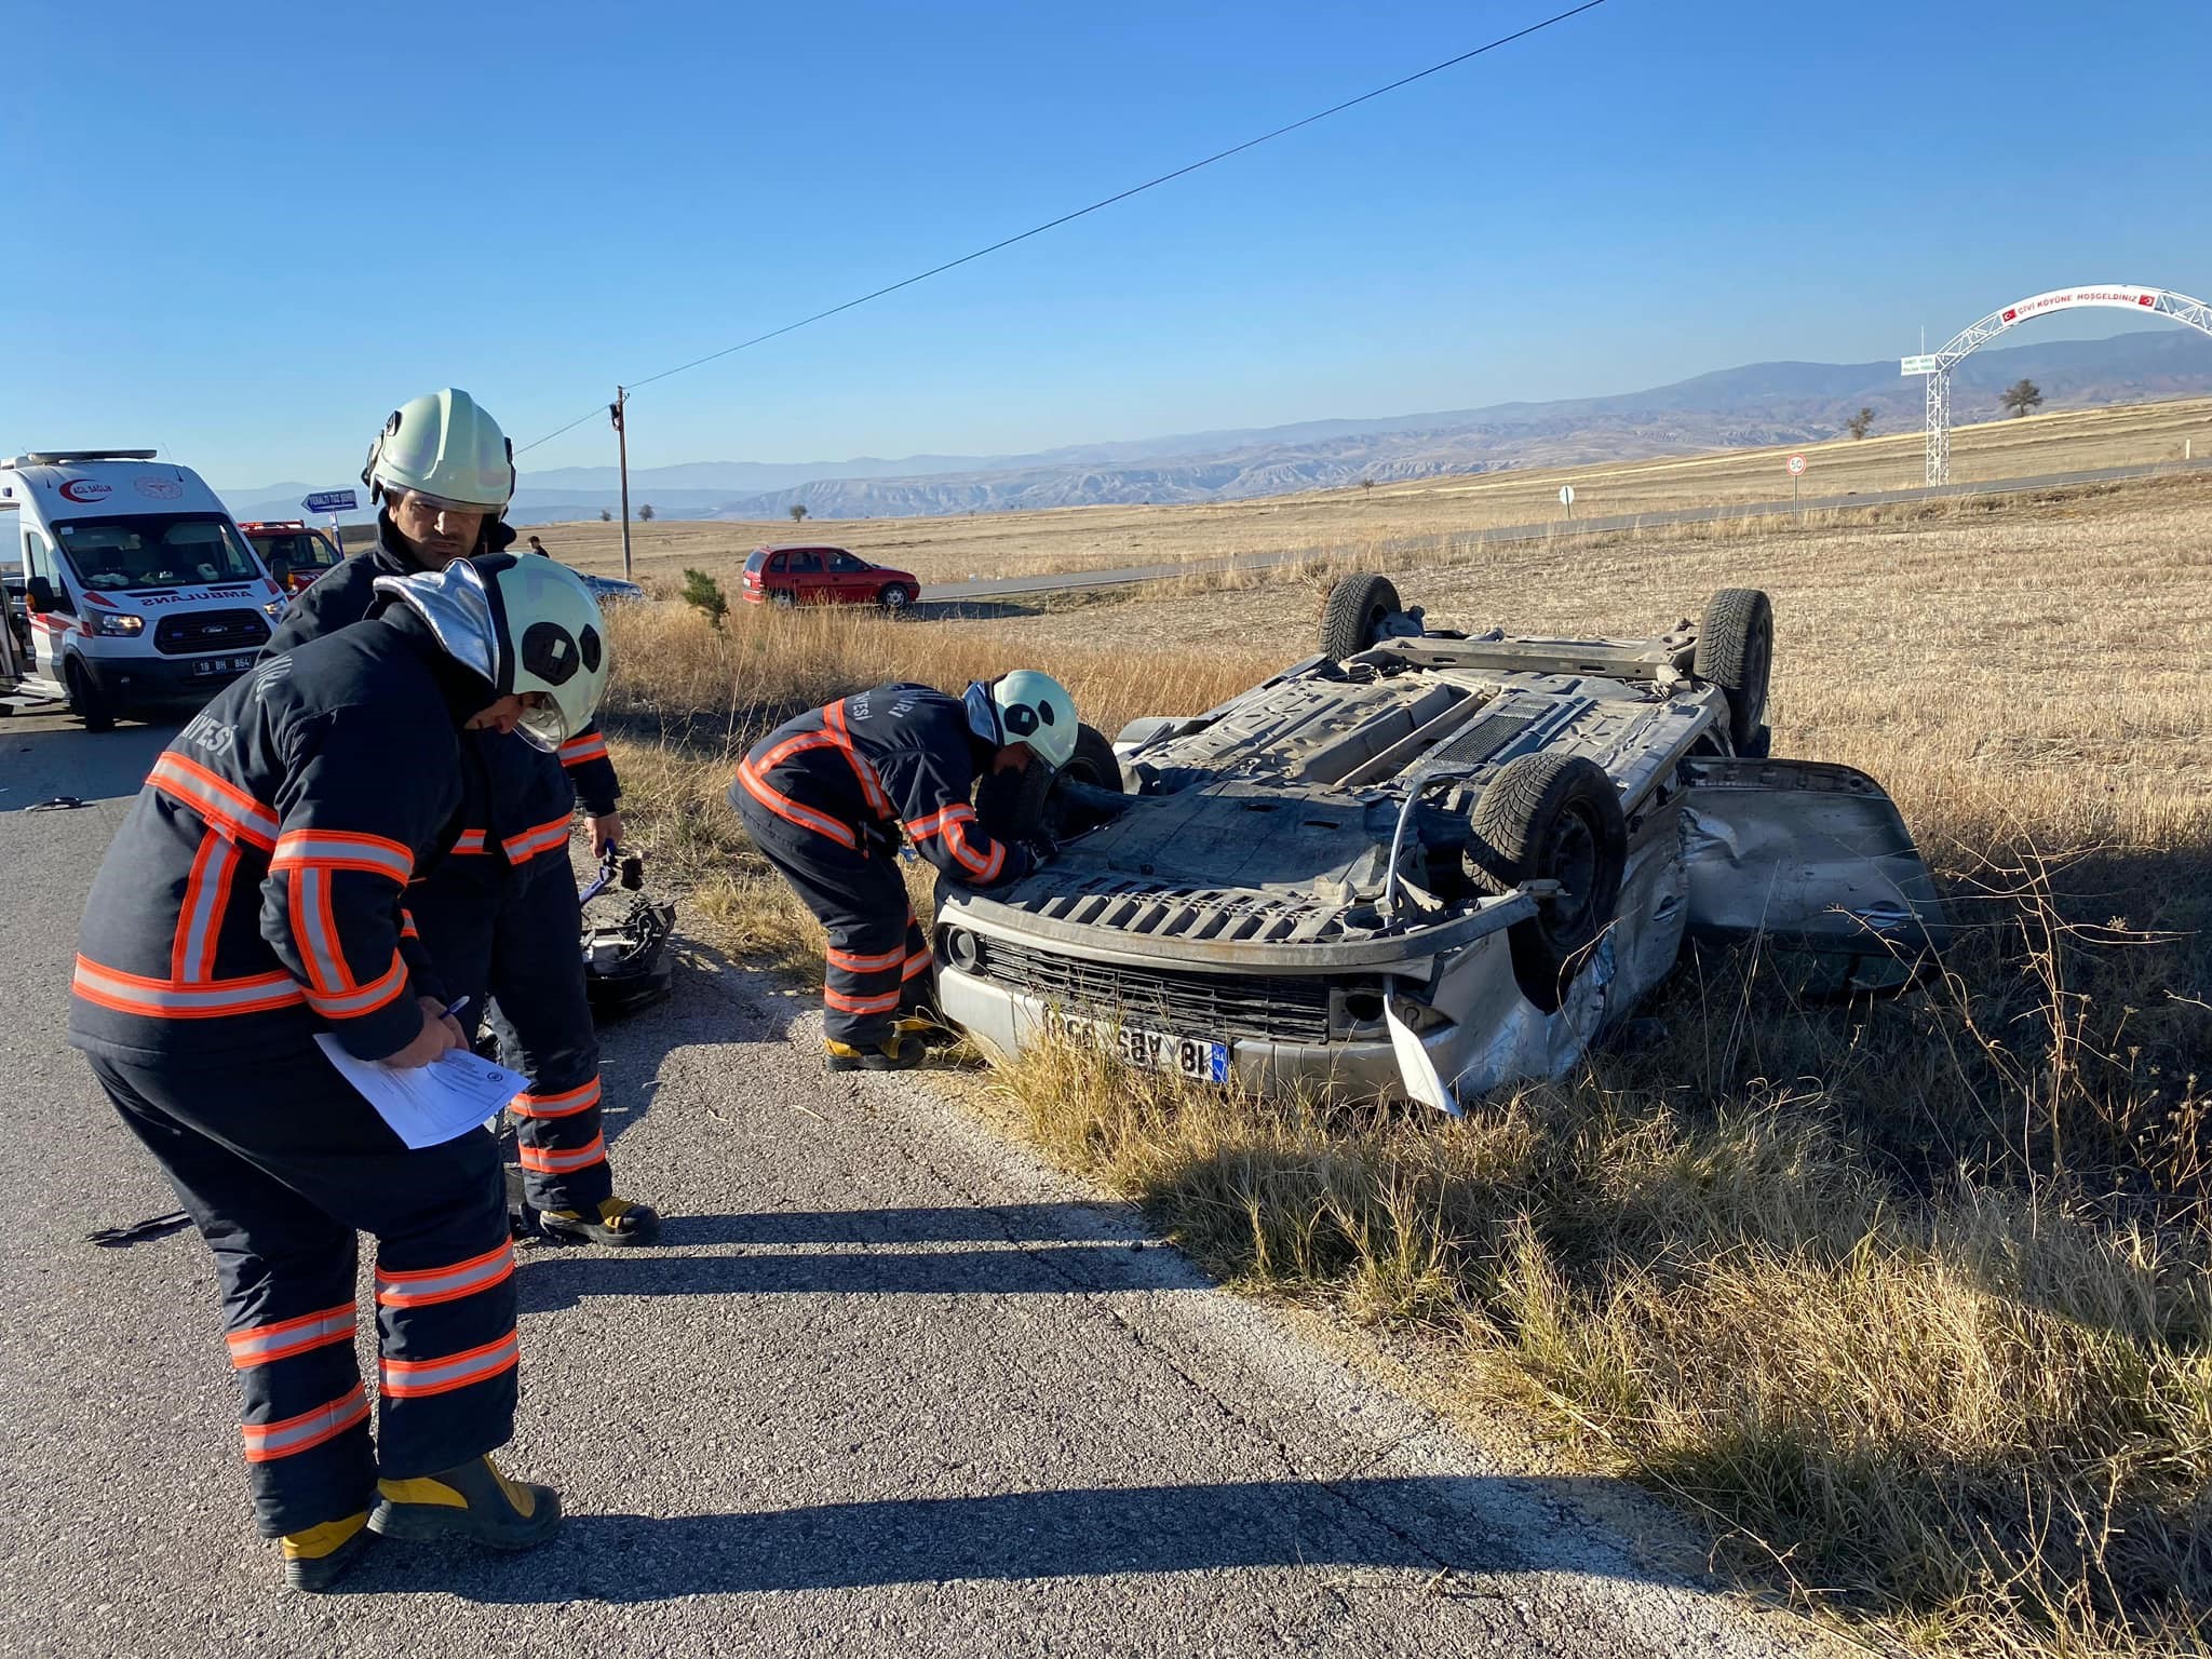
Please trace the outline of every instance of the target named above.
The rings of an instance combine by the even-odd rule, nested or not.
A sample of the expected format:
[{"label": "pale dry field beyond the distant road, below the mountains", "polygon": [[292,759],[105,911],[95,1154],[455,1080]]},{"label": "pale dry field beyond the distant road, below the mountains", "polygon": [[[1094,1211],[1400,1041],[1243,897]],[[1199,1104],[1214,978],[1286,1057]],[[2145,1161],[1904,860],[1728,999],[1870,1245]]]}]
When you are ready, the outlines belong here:
[{"label": "pale dry field beyond the distant road, below the mountains", "polygon": [[[2026,478],[2090,467],[2179,460],[2183,445],[2212,453],[2212,400],[2079,409],[2026,420],[1960,427],[1951,473],[1960,482]],[[1920,431],[1863,442],[1812,445],[1805,493],[1896,489],[1922,482]],[[633,524],[639,575],[677,582],[699,566],[734,582],[761,542],[823,540],[867,560],[914,571],[925,584],[969,577],[1172,564],[1310,549],[1363,553],[1389,542],[1447,538],[1489,524],[1542,524],[1559,515],[1559,484],[1575,484],[1586,518],[1657,513],[1683,507],[1759,502],[1790,495],[1781,449],[1732,449],[1617,467],[1500,471],[1378,484],[1374,491],[1274,495],[1208,507],[1077,507],[1051,513],[973,518],[790,520],[772,524]],[[619,524],[538,524],[546,546],[584,571],[622,568]]]}]

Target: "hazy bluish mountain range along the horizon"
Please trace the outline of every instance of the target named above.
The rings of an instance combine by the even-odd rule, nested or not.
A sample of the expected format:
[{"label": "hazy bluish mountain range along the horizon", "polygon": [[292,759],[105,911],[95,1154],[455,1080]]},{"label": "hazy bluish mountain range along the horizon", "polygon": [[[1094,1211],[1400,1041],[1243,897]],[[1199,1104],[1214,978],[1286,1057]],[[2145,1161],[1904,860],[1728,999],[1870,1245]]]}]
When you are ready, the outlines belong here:
[{"label": "hazy bluish mountain range along the horizon", "polygon": [[[2000,414],[1997,394],[2026,376],[2046,409],[2212,394],[2212,338],[2188,330],[2048,341],[1975,352],[1951,376],[1953,420]],[[1303,420],[1248,431],[1199,431],[1133,442],[1071,445],[1033,456],[905,456],[900,460],[701,460],[630,473],[630,504],[659,518],[774,520],[794,504],[814,518],[1000,513],[1106,502],[1219,502],[1500,467],[1571,467],[1705,449],[1816,442],[1860,407],[1874,429],[1920,427],[1920,380],[1878,363],[1752,363],[1694,380],[1557,403]],[[307,484],[226,491],[239,518],[292,518]],[[522,473],[509,518],[551,524],[619,504],[613,467]]]}]

